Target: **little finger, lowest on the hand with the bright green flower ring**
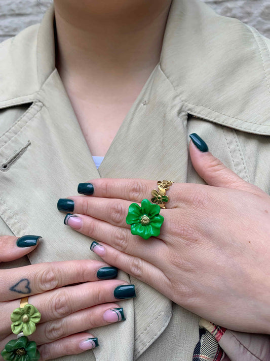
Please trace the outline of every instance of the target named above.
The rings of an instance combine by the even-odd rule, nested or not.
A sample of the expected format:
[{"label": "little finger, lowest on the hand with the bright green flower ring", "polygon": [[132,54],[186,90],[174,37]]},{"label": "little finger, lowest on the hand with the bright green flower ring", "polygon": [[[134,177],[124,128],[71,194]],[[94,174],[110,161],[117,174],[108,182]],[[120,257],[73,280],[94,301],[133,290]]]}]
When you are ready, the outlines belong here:
[{"label": "little finger, lowest on the hand with the bright green flower ring", "polygon": [[163,294],[169,294],[169,291],[173,289],[171,281],[167,278],[164,272],[161,271],[161,269],[166,270],[168,268],[169,258],[167,258],[165,254],[163,254],[163,258],[167,258],[167,266],[165,268],[161,266],[160,269],[144,259],[123,253],[104,242],[101,242],[100,246],[104,249],[102,254],[99,251],[96,251],[96,247],[93,251],[100,255],[102,259],[106,261],[109,260],[112,265],[115,265],[115,267],[119,267],[122,271],[142,282],[149,284]]}]

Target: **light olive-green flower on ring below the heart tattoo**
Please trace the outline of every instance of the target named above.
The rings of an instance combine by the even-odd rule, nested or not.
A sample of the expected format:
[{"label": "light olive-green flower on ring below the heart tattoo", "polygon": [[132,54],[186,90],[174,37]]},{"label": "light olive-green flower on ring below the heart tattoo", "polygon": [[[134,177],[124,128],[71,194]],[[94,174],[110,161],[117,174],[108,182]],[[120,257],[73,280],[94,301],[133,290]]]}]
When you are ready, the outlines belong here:
[{"label": "light olive-green flower on ring below the heart tattoo", "polygon": [[25,305],[23,308],[16,308],[11,314],[11,330],[15,335],[23,332],[29,336],[35,332],[35,324],[40,322],[41,313],[33,305]]}]

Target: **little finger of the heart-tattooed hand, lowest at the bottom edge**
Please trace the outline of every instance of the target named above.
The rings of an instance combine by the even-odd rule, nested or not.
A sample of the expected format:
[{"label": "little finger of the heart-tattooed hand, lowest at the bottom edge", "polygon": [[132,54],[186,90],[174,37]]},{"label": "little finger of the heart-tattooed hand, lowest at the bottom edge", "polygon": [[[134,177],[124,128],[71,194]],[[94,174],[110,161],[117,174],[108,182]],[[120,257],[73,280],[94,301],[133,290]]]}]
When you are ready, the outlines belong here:
[{"label": "little finger of the heart-tattooed hand, lowest at the bottom edge", "polygon": [[92,334],[81,333],[41,345],[38,347],[38,351],[41,353],[40,361],[46,361],[66,355],[76,355],[98,345],[98,339]]}]

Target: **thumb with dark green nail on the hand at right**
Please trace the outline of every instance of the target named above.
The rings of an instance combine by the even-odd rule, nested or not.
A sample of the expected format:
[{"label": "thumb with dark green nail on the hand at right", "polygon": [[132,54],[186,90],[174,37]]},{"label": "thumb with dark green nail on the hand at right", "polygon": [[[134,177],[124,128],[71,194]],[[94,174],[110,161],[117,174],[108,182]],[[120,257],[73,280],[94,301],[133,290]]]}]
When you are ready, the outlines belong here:
[{"label": "thumb with dark green nail on the hand at right", "polygon": [[215,187],[234,188],[252,193],[263,192],[255,185],[244,181],[228,169],[221,160],[208,151],[207,144],[196,133],[189,135],[189,153],[192,165],[204,181]]}]

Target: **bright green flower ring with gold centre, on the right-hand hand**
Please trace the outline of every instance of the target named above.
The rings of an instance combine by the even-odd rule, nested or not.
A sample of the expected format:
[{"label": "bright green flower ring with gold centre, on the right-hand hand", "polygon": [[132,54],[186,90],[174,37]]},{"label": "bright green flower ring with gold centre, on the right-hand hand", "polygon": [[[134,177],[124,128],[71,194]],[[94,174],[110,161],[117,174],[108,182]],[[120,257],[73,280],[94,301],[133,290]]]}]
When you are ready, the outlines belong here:
[{"label": "bright green flower ring with gold centre, on the right-hand hand", "polygon": [[164,217],[160,215],[160,210],[159,205],[152,204],[147,199],[142,200],[141,207],[137,203],[132,203],[126,217],[127,224],[131,224],[131,233],[145,240],[151,236],[159,236],[164,221]]}]

